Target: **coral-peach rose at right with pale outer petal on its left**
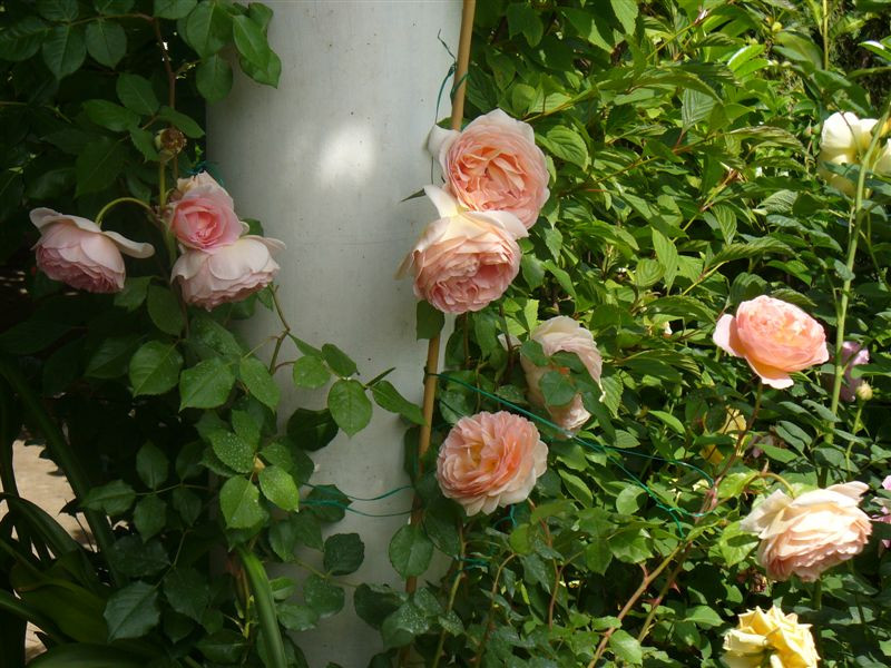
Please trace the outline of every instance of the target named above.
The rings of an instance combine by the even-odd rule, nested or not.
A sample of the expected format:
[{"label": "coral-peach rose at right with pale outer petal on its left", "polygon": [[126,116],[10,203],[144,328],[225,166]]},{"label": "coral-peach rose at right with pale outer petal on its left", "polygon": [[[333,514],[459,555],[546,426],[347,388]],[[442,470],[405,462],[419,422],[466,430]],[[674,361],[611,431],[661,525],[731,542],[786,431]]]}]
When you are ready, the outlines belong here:
[{"label": "coral-peach rose at right with pale outer petal on its left", "polygon": [[793,304],[762,295],[743,302],[736,317],[725,314],[713,341],[736,357],[745,357],[761,381],[790,387],[790,373],[829,360],[823,327]]}]

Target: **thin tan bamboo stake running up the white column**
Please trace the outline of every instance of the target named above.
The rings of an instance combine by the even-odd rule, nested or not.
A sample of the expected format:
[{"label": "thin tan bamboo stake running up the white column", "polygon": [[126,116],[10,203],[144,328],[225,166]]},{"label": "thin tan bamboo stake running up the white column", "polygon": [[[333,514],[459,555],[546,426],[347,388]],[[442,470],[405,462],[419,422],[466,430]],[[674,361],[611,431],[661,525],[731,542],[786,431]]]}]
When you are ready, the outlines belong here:
[{"label": "thin tan bamboo stake running up the white column", "polygon": [[[467,70],[470,63],[470,39],[473,36],[473,13],[477,9],[477,0],[464,0],[461,11],[461,33],[458,42],[458,60],[454,69],[454,95],[452,96],[451,127],[453,130],[461,129],[464,118],[464,89],[467,88]],[[424,400],[423,416],[424,424],[421,426],[421,434],[418,441],[418,475],[421,470],[421,460],[430,450],[430,433],[433,428],[433,403],[437,399],[437,371],[439,367],[439,334],[430,340],[427,346],[427,365],[424,366]],[[414,508],[411,513],[411,523],[418,525],[423,515],[423,508],[420,499],[415,497]],[[405,580],[405,591],[412,593],[418,588],[418,578],[411,577]]]}]

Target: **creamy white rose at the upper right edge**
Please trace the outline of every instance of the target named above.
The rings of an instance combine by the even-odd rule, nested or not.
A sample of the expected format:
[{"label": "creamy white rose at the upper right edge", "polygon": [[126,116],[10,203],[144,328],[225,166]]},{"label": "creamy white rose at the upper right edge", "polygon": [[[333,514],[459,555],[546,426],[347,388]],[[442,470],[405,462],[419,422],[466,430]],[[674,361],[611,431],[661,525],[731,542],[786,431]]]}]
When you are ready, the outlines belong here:
[{"label": "creamy white rose at the upper right edge", "polygon": [[[823,122],[817,160],[834,165],[860,163],[872,141],[872,132],[878,122],[874,118],[858,118],[850,111],[833,114]],[[881,174],[891,173],[891,143],[877,147],[870,168]],[[855,186],[851,179],[833,174],[822,165],[817,171],[832,187],[845,195],[854,194]]]}]

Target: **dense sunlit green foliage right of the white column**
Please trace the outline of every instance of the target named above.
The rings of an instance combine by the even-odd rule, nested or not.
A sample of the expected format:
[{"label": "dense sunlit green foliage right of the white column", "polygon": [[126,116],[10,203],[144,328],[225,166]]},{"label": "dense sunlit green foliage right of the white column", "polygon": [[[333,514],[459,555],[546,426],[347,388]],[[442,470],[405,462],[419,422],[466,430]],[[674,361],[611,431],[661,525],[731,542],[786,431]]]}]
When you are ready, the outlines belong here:
[{"label": "dense sunlit green foliage right of the white column", "polygon": [[[799,493],[864,481],[872,515],[887,497],[891,187],[866,175],[854,213],[815,157],[830,114],[885,111],[891,6],[825,7],[479,3],[467,116],[530,122],[551,197],[521,277],[459,316],[444,373],[466,384],[441,379],[440,415],[505,409],[474,387],[528,409],[518,355],[540,350],[497,335],[527,341],[558,314],[594,333],[604,392],[580,365],[542,384],[555,405],[581,391],[595,420],[580,440],[549,439],[530,503],[467,520],[432,474],[420,481],[427,537],[412,540],[453,561],[408,600],[366,592],[395,610],[365,615],[386,645],[433,666],[718,666],[736,616],[776,603],[813,625],[822,665],[887,665],[885,524],[815,584],[765,580],[738,525],[783,489],[777,474]],[[722,312],[762,294],[816,317],[831,354],[836,338],[868,347],[872,399],[833,397],[834,354],[762,395],[712,343]]]}]

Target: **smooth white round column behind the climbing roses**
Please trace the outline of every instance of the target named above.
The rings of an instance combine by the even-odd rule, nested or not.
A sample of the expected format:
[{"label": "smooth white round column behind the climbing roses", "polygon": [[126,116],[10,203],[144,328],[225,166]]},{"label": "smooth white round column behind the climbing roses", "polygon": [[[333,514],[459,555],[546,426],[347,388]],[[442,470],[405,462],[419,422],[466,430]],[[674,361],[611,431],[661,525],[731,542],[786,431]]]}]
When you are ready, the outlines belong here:
[{"label": "smooth white round column behind the climbing roses", "polygon": [[[209,110],[209,159],[239,214],[287,244],[278,283],[294,333],[343,348],[365,381],[395,366],[391,382],[420,402],[425,343],[414,340],[411,284],[393,275],[435,212],[424,199],[400,200],[430,180],[423,146],[451,62],[437,35],[457,50],[460,2],[266,3],[275,11],[270,41],[283,63],[278,89],[236,77],[233,94]],[[444,95],[440,114],[448,112]],[[276,331],[261,311],[248,332],[254,341]],[[324,404],[325,391],[294,392],[290,369],[277,380],[284,418],[296,405]],[[375,407],[368,429],[313,455],[313,482],[356,497],[405,484],[403,432]],[[403,492],[355,508],[388,513],[410,505]],[[399,584],[386,550],[405,521],[347,513],[332,525],[365,543],[365,563],[346,579]],[[341,613],[295,639],[311,668],[364,668],[381,648],[379,633],[353,612],[350,588]]]}]

